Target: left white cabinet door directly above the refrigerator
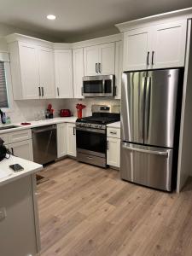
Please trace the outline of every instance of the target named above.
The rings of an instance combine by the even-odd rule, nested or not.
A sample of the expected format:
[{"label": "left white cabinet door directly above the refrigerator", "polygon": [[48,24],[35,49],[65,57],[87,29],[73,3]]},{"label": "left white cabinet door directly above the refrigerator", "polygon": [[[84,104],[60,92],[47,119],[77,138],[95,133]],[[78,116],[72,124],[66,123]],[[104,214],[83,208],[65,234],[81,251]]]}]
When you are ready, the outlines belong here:
[{"label": "left white cabinet door directly above the refrigerator", "polygon": [[145,70],[150,58],[151,28],[134,29],[124,34],[123,70]]}]

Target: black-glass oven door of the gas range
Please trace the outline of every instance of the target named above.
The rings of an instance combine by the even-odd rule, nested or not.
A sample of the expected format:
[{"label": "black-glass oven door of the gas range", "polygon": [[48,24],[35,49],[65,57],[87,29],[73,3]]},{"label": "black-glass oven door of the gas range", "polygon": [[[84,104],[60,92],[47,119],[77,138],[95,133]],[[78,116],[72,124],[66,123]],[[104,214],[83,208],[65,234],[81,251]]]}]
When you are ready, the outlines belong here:
[{"label": "black-glass oven door of the gas range", "polygon": [[76,127],[77,152],[106,158],[107,134],[105,130]]}]

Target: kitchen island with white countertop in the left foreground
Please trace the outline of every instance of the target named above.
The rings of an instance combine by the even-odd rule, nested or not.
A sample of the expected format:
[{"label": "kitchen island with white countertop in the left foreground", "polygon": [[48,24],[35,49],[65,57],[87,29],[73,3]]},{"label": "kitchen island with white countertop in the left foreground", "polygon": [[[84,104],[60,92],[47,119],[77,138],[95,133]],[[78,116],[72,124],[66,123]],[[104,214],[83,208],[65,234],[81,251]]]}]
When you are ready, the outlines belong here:
[{"label": "kitchen island with white countertop in the left foreground", "polygon": [[[9,166],[19,164],[23,171]],[[37,255],[40,250],[35,173],[43,166],[11,156],[0,162],[0,254]]]}]

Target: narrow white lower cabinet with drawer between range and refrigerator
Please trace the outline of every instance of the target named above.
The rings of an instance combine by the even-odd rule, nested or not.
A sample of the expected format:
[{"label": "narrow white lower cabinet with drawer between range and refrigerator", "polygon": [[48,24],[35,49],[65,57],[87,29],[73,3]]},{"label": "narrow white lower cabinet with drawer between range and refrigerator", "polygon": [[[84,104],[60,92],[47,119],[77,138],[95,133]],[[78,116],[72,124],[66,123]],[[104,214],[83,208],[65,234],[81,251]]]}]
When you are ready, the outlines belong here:
[{"label": "narrow white lower cabinet with drawer between range and refrigerator", "polygon": [[[108,134],[112,128],[108,128]],[[113,128],[111,137],[107,137],[108,149],[107,149],[107,164],[108,166],[120,167],[120,138],[119,128]],[[116,136],[115,136],[116,135]]]}]

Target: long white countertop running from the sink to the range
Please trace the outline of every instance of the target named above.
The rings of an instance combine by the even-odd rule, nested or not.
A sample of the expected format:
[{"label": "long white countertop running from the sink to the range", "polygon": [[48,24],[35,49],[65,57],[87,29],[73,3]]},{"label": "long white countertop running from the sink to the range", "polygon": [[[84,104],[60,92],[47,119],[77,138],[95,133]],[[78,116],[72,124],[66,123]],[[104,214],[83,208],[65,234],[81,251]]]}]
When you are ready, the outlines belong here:
[{"label": "long white countertop running from the sink to the range", "polygon": [[[29,121],[31,125],[20,125],[19,124],[10,124],[10,125],[18,125],[19,127],[9,129],[9,130],[2,130],[0,131],[0,134],[13,132],[13,131],[20,131],[23,129],[31,129],[38,126],[44,126],[44,125],[54,125],[54,124],[60,124],[60,123],[75,123],[77,117],[66,117],[66,118],[54,118],[54,119],[45,119],[45,120],[39,120],[39,121]],[[3,125],[0,125],[0,127]]]}]

